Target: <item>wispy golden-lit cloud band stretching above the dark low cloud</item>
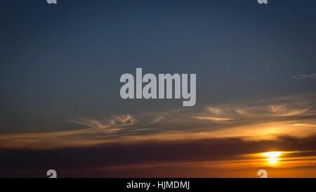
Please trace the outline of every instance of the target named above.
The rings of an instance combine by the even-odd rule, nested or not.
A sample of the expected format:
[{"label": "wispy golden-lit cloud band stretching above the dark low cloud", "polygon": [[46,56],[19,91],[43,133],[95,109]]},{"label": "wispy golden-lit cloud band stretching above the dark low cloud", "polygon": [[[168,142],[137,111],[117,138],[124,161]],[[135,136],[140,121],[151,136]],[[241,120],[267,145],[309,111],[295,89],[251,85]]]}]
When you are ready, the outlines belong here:
[{"label": "wispy golden-lit cloud band stretching above the dark low cloud", "polygon": [[2,134],[0,148],[65,148],[227,137],[267,139],[278,134],[309,136],[316,134],[315,97],[286,96],[256,103],[180,108],[138,114],[137,119],[130,114],[101,119],[81,117],[68,120],[78,124],[77,129]]}]

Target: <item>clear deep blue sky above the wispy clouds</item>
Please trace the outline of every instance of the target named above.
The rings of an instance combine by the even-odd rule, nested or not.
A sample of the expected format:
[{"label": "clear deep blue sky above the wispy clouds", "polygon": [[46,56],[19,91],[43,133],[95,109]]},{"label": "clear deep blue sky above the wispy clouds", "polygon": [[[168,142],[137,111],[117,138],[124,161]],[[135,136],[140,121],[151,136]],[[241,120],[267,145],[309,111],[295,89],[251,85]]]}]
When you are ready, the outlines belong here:
[{"label": "clear deep blue sky above the wispy clouds", "polygon": [[119,77],[196,73],[197,105],[315,91],[316,1],[5,0],[0,133],[71,127],[74,117],[180,108],[123,101]]}]

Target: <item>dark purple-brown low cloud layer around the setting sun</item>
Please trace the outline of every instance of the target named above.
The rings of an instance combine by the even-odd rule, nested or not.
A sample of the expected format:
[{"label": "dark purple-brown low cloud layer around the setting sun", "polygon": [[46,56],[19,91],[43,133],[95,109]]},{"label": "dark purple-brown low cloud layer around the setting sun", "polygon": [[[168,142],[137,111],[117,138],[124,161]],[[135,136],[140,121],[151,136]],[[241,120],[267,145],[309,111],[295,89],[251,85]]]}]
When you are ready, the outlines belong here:
[{"label": "dark purple-brown low cloud layer around the setting sun", "polygon": [[[54,168],[64,177],[113,177],[133,169],[138,177],[142,167],[166,169],[251,169],[263,166],[251,154],[265,151],[293,151],[284,161],[287,167],[315,167],[316,136],[298,139],[278,136],[275,140],[202,139],[192,141],[103,144],[96,147],[37,151],[1,151],[1,176],[40,176]],[[298,153],[299,152],[299,153]],[[249,158],[250,157],[250,158]],[[298,160],[304,160],[303,164]],[[308,161],[306,161],[308,159]],[[254,163],[256,160],[256,163]],[[287,163],[291,160],[291,163]],[[259,163],[258,163],[259,162]],[[148,172],[149,169],[147,169]],[[16,175],[15,175],[16,174]],[[180,172],[173,172],[178,174]]]}]

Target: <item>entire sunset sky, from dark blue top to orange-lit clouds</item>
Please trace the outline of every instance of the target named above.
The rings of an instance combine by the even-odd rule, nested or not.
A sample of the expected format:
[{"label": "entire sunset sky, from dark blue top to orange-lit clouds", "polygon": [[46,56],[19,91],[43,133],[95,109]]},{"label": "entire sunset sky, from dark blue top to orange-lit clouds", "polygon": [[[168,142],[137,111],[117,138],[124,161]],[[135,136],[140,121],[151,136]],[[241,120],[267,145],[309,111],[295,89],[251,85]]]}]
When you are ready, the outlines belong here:
[{"label": "entire sunset sky, from dark blue top to orange-lit clouds", "polygon": [[[315,8],[1,1],[0,177],[316,177]],[[136,68],[197,74],[196,105],[122,99]]]}]

